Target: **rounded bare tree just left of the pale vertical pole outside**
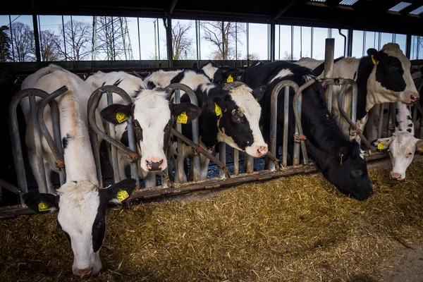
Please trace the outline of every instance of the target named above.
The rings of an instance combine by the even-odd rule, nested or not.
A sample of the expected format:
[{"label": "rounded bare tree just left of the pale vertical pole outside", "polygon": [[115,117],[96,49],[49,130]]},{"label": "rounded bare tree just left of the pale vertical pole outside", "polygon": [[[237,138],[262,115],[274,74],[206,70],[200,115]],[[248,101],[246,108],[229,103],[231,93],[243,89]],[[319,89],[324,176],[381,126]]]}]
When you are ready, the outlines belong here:
[{"label": "rounded bare tree just left of the pale vertical pole outside", "polygon": [[67,60],[81,61],[91,55],[91,36],[92,26],[90,23],[78,20],[68,21],[61,29],[61,36],[55,37],[56,47]]}]

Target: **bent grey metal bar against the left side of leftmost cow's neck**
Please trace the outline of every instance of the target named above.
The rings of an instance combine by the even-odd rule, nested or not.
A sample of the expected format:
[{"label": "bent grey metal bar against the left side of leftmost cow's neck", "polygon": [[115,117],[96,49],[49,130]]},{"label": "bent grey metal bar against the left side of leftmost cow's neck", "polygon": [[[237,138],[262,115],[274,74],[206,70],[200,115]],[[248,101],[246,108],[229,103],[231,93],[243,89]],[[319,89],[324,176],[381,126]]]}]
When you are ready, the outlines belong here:
[{"label": "bent grey metal bar against the left side of leftmost cow's neck", "polygon": [[[39,102],[38,108],[37,108],[37,117],[39,122],[39,128],[42,131],[42,135],[44,135],[44,138],[46,139],[47,143],[50,146],[51,152],[54,155],[54,159],[56,159],[56,166],[63,171],[63,173],[66,173],[65,171],[65,162],[63,160],[63,152],[61,149],[61,135],[60,130],[58,130],[57,133],[54,133],[54,139],[56,140],[56,143],[54,142],[53,138],[51,138],[51,135],[49,133],[49,130],[46,126],[46,123],[44,122],[44,108],[49,104],[50,102],[53,102],[56,97],[59,97],[61,94],[68,91],[68,87],[66,85],[60,87],[58,90],[54,91],[53,93],[49,94],[49,96],[45,97]],[[54,111],[54,108],[51,109],[51,111]],[[59,111],[57,112],[59,113]],[[54,122],[53,118],[51,119],[52,122]],[[58,121],[56,121],[58,122]],[[55,132],[56,130],[54,130]],[[58,134],[58,135],[56,135]],[[58,142],[59,141],[59,142]],[[58,143],[57,143],[58,142]]]}]

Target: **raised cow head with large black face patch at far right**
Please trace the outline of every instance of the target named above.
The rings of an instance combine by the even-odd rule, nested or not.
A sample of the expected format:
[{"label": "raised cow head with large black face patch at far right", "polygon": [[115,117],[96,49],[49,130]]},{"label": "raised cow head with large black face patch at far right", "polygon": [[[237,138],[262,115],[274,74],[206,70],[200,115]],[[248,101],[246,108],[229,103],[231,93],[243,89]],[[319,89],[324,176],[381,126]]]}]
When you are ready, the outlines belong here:
[{"label": "raised cow head with large black face patch at far right", "polygon": [[[367,50],[370,63],[376,67],[371,75],[374,75],[374,85],[367,85],[368,89],[378,94],[374,99],[378,103],[397,102],[412,104],[419,99],[419,92],[415,87],[410,72],[410,60],[403,54],[400,46],[396,43],[388,43],[381,51],[370,48]],[[372,80],[369,80],[372,81]],[[380,97],[379,93],[386,93]]]}]

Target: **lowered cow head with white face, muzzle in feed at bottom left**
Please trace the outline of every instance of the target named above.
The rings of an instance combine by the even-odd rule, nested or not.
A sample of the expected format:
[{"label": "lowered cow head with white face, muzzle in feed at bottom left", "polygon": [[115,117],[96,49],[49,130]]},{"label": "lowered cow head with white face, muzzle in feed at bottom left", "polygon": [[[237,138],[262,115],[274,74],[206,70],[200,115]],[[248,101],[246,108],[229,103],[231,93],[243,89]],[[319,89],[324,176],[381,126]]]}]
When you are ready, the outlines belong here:
[{"label": "lowered cow head with white face, muzzle in feed at bottom left", "polygon": [[133,192],[135,179],[127,178],[99,189],[90,181],[65,183],[57,195],[27,192],[23,200],[35,212],[59,209],[57,226],[63,230],[73,251],[75,276],[98,274],[102,268],[99,250],[106,233],[106,208],[111,200],[123,201]]}]

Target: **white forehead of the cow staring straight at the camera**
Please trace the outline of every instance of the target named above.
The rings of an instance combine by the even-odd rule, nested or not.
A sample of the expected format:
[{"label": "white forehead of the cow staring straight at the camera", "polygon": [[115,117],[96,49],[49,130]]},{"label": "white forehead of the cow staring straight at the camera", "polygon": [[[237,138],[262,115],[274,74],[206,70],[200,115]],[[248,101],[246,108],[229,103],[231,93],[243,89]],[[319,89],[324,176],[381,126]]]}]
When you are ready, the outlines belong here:
[{"label": "white forehead of the cow staring straight at the camera", "polygon": [[144,130],[164,128],[171,118],[167,93],[157,90],[143,90],[134,100],[134,118]]}]

